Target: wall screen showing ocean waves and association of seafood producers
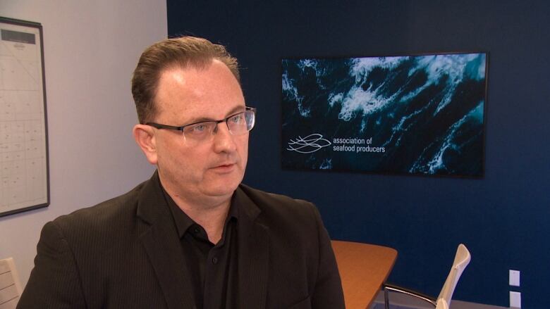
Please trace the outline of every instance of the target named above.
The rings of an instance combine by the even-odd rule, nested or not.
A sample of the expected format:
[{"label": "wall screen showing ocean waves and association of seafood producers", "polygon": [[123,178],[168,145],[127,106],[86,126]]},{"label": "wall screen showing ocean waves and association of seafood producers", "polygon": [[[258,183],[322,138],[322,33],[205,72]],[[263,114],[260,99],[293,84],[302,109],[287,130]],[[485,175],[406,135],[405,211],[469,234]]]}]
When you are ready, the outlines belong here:
[{"label": "wall screen showing ocean waves and association of seafood producers", "polygon": [[283,59],[283,168],[482,177],[486,61]]}]

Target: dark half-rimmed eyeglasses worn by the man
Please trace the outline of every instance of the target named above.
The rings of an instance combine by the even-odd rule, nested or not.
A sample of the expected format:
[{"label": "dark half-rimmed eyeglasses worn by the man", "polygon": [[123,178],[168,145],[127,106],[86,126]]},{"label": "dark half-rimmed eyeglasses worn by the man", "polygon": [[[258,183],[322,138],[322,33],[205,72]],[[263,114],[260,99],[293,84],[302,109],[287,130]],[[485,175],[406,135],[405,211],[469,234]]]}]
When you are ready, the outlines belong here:
[{"label": "dark half-rimmed eyeglasses worn by the man", "polygon": [[218,125],[221,122],[226,122],[229,132],[233,135],[243,135],[255,125],[256,108],[246,107],[245,111],[233,114],[222,120],[195,122],[181,127],[172,125],[161,125],[155,122],[147,122],[145,125],[156,127],[157,129],[177,130],[183,133],[185,142],[191,144],[200,144],[211,139],[218,131]]}]

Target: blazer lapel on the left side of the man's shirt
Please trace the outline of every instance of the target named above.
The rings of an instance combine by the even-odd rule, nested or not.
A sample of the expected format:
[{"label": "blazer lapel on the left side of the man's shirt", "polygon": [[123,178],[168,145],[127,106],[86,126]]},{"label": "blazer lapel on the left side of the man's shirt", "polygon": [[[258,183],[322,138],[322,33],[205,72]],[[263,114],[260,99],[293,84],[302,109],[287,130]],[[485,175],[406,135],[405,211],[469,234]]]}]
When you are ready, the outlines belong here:
[{"label": "blazer lapel on the left side of the man's shirt", "polygon": [[162,196],[157,172],[143,188],[138,217],[149,224],[140,240],[157,274],[168,308],[195,308],[193,284],[184,263],[176,227]]}]

